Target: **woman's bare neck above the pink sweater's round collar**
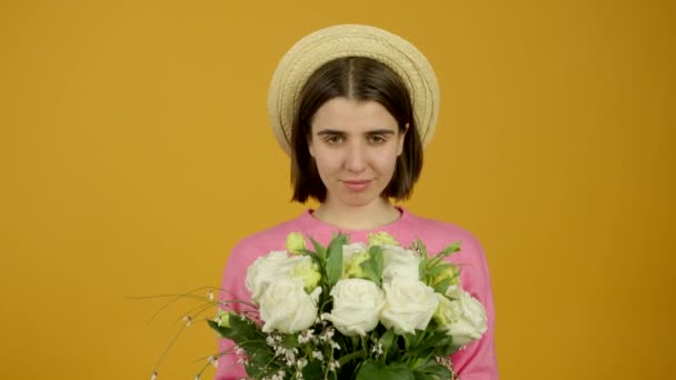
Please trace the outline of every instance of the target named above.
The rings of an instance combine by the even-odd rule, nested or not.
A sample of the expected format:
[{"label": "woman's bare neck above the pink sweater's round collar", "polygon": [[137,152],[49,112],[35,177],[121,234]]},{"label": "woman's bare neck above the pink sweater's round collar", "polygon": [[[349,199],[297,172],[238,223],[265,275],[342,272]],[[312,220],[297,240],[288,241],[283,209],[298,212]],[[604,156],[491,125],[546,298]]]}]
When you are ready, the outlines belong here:
[{"label": "woman's bare neck above the pink sweater's round collar", "polygon": [[368,230],[389,224],[401,217],[401,213],[389,200],[379,199],[365,206],[346,207],[325,202],[312,212],[312,217],[339,228],[349,230]]}]

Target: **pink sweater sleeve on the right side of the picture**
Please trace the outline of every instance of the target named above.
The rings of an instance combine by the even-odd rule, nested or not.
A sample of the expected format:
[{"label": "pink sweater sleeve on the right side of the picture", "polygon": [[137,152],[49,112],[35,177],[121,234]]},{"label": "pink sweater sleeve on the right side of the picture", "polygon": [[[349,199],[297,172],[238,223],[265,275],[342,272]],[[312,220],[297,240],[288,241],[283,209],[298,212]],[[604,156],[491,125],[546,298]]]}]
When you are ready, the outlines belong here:
[{"label": "pink sweater sleeve on the right side of the picture", "polygon": [[455,370],[463,380],[497,380],[498,368],[495,354],[495,307],[488,264],[484,250],[471,239],[469,264],[463,267],[463,287],[486,309],[488,327],[481,339],[474,341],[451,357]]}]

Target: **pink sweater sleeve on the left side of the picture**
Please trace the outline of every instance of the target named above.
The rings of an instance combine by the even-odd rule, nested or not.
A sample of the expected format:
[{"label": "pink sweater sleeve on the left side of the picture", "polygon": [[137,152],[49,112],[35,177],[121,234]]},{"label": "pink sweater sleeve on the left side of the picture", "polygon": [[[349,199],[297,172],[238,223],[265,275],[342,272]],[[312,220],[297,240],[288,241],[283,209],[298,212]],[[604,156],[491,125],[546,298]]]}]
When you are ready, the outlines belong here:
[{"label": "pink sweater sleeve on the left side of the picture", "polygon": [[[250,296],[245,289],[245,279],[250,261],[248,258],[250,256],[247,254],[245,247],[245,244],[239,243],[230,251],[223,273],[221,289],[218,296],[219,301],[250,300]],[[232,310],[238,313],[242,311],[241,304],[236,302],[225,303],[221,306],[221,309]],[[247,378],[243,366],[237,362],[239,357],[235,354],[233,346],[233,342],[229,339],[218,339],[218,351],[225,354],[222,354],[218,360],[215,380]]]}]

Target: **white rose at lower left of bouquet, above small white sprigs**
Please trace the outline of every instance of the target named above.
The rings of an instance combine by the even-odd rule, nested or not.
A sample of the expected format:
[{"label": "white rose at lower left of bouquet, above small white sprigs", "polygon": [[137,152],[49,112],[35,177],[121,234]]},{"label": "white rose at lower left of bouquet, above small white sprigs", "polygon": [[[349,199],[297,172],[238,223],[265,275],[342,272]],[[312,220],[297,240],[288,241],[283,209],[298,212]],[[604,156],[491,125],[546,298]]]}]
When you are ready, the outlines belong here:
[{"label": "white rose at lower left of bouquet, above small white sprigs", "polygon": [[262,332],[295,333],[312,326],[320,293],[321,288],[316,288],[308,294],[298,278],[279,278],[270,283],[260,298]]}]

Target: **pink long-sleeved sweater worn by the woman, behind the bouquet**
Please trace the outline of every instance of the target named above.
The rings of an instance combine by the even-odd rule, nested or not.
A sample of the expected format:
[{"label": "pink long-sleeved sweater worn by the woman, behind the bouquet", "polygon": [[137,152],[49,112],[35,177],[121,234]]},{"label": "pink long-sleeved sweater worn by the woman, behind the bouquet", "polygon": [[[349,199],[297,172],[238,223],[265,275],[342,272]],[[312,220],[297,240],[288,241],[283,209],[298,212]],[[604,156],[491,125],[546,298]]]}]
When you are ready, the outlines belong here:
[{"label": "pink long-sleeved sweater worn by the woman, behind the bouquet", "polygon": [[[416,217],[402,208],[401,218],[397,221],[372,230],[345,230],[327,224],[312,217],[312,210],[307,210],[300,217],[278,224],[262,232],[242,239],[230,252],[223,276],[221,300],[243,299],[250,300],[245,287],[247,268],[260,256],[269,251],[282,250],[286,237],[290,232],[302,232],[311,236],[324,246],[328,244],[331,233],[348,232],[350,242],[367,242],[369,232],[385,231],[395,237],[404,247],[414,240],[420,239],[429,253],[436,253],[449,243],[460,240],[461,251],[453,254],[450,260],[461,264],[460,281],[463,288],[484,304],[488,314],[488,330],[484,337],[456,352],[451,359],[456,371],[463,380],[494,380],[498,379],[495,356],[495,309],[493,292],[488,277],[488,266],[484,251],[477,239],[468,231],[454,224]],[[308,241],[308,247],[311,247]],[[233,308],[237,309],[237,308]],[[231,347],[231,342],[219,339],[219,350]],[[245,369],[238,364],[237,357],[226,354],[219,359],[216,380],[246,378]]]}]

